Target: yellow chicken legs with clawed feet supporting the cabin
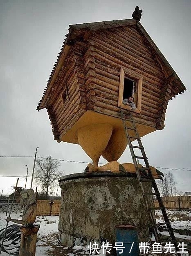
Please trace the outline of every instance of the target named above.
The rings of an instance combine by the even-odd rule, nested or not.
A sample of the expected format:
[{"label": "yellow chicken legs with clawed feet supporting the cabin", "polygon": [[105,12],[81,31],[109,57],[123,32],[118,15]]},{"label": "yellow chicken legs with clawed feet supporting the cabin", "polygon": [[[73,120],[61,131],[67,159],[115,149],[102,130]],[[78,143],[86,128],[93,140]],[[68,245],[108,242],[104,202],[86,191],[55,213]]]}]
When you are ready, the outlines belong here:
[{"label": "yellow chicken legs with clawed feet supporting the cabin", "polygon": [[[93,161],[93,164],[88,164],[85,168],[85,173],[101,171],[136,173],[134,164],[119,164],[117,161],[128,144],[124,129],[113,129],[111,124],[94,124],[79,129],[77,136],[79,144]],[[101,155],[108,164],[98,166]],[[142,165],[139,164],[139,167]],[[162,179],[161,176],[164,176],[155,167],[151,167],[151,171],[155,179]]]}]

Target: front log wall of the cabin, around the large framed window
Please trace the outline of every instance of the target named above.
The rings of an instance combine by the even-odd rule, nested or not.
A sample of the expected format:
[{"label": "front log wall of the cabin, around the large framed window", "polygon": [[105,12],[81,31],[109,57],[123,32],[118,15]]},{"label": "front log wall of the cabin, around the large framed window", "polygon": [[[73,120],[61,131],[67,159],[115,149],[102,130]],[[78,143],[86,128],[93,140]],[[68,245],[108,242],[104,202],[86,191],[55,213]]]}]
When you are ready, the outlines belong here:
[{"label": "front log wall of the cabin, around the large framed window", "polygon": [[[94,111],[119,113],[118,93],[120,67],[143,76],[142,114],[133,113],[137,121],[156,127],[164,87],[164,74],[153,59],[144,37],[131,27],[121,27],[94,33],[84,55],[85,86],[93,97],[88,105]],[[88,88],[91,86],[91,89]],[[88,98],[89,100],[89,98]],[[112,115],[112,114],[111,114]]]}]

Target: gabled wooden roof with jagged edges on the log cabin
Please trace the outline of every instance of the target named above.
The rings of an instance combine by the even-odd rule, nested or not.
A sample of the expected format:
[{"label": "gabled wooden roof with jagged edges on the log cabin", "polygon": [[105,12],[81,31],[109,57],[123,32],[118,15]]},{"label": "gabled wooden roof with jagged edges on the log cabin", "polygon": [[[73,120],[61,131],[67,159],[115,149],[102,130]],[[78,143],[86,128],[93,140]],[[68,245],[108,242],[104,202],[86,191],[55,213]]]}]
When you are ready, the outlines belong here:
[{"label": "gabled wooden roof with jagged edges on the log cabin", "polygon": [[139,21],[136,21],[135,19],[125,19],[125,20],[117,20],[117,21],[101,21],[101,22],[92,22],[92,23],[83,23],[83,24],[75,24],[75,25],[69,25],[69,33],[66,36],[66,39],[63,42],[61,52],[58,53],[56,63],[54,64],[54,67],[50,73],[49,80],[47,81],[47,86],[45,87],[45,90],[43,92],[43,96],[41,100],[39,101],[39,104],[37,106],[37,110],[43,109],[47,106],[47,99],[49,96],[49,92],[54,84],[54,81],[56,80],[60,69],[63,66],[64,60],[70,50],[70,47],[74,42],[84,40],[85,38],[90,35],[91,32],[95,32],[98,30],[106,30],[110,28],[117,28],[121,26],[130,26],[130,25],[137,25],[139,28],[139,31],[144,35],[149,48],[151,49],[151,52],[153,54],[153,58],[159,62],[160,67],[162,68],[162,71],[164,72],[165,78],[166,78],[166,84],[171,84],[173,87],[173,91],[169,97],[169,99],[172,97],[175,97],[178,94],[182,94],[184,90],[187,90],[178,77],[178,75],[175,73],[169,62],[166,60],[164,55],[161,53],[159,48],[156,46],[156,44],[153,42],[151,37],[148,35],[144,27],[141,25]]}]

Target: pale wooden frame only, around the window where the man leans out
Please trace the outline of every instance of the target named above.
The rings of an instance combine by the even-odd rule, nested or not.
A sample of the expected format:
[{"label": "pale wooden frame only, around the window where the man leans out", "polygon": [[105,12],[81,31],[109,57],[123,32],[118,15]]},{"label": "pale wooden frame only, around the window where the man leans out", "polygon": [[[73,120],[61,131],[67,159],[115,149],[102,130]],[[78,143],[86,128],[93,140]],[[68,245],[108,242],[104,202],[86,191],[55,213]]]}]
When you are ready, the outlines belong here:
[{"label": "pale wooden frame only, around the window where the man leans out", "polygon": [[[127,79],[131,79],[135,81],[138,85],[137,90],[137,106],[135,110],[131,110],[130,106],[127,106],[123,104],[123,94],[124,94],[124,79],[125,77]],[[120,68],[120,79],[119,79],[119,96],[118,96],[118,107],[124,108],[128,111],[141,113],[141,101],[142,101],[142,82],[143,82],[143,76],[140,74],[137,74],[134,71],[131,71],[129,69]]]}]

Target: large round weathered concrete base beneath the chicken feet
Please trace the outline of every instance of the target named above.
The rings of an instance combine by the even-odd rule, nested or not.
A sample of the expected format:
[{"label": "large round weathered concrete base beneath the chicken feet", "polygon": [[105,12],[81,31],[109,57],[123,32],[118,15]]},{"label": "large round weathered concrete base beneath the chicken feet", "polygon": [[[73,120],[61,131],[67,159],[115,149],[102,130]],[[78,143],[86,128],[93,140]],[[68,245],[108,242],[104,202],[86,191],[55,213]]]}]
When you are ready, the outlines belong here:
[{"label": "large round weathered concrete base beneath the chicken feet", "polygon": [[[115,226],[120,224],[136,225],[139,241],[146,241],[148,215],[137,178],[130,176],[103,172],[61,177],[61,242],[67,246],[103,239],[115,243]],[[151,192],[150,183],[145,187]]]}]

